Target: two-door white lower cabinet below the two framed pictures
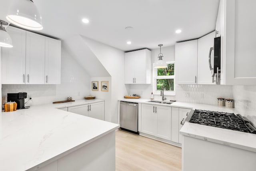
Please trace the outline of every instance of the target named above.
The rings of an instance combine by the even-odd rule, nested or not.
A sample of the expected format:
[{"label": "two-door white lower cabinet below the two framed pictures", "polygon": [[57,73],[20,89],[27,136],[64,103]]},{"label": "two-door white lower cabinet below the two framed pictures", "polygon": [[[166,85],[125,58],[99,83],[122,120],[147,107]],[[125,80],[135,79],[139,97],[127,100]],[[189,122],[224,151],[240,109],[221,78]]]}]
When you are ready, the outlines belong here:
[{"label": "two-door white lower cabinet below the two framed pictures", "polygon": [[104,101],[68,107],[68,111],[72,113],[84,115],[84,116],[93,117],[95,119],[100,119],[100,120],[105,119]]}]

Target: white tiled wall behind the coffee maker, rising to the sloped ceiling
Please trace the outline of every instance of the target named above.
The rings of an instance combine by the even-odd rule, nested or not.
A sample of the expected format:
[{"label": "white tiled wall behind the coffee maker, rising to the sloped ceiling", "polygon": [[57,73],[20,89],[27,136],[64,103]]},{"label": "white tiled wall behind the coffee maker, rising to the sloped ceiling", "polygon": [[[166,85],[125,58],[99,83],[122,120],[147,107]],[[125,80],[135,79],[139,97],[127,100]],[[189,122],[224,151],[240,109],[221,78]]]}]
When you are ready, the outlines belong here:
[{"label": "white tiled wall behind the coffee maker, rising to the sloped ceiling", "polygon": [[[27,104],[38,105],[90,95],[90,77],[82,66],[62,46],[61,84],[59,85],[2,85],[2,95],[25,91],[32,97]],[[26,99],[27,100],[27,99]]]}]

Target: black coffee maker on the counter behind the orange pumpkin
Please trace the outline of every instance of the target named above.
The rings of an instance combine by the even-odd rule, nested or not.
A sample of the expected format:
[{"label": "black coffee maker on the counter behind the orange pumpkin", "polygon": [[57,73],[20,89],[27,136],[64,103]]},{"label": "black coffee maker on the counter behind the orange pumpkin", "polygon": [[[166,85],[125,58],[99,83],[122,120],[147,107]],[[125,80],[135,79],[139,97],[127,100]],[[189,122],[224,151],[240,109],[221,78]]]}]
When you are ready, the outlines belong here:
[{"label": "black coffee maker on the counter behind the orange pumpkin", "polygon": [[17,109],[25,108],[25,99],[26,98],[27,98],[26,92],[7,93],[7,101],[15,101],[17,103]]}]

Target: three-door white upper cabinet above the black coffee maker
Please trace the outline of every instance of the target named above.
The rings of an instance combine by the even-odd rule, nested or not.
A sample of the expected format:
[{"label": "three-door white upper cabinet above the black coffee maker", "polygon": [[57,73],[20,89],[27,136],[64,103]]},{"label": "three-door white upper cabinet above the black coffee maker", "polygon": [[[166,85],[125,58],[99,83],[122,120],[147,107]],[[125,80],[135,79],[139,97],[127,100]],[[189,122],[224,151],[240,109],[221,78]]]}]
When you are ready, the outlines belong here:
[{"label": "three-door white upper cabinet above the black coffee maker", "polygon": [[61,41],[8,26],[13,48],[2,51],[2,84],[60,84]]}]

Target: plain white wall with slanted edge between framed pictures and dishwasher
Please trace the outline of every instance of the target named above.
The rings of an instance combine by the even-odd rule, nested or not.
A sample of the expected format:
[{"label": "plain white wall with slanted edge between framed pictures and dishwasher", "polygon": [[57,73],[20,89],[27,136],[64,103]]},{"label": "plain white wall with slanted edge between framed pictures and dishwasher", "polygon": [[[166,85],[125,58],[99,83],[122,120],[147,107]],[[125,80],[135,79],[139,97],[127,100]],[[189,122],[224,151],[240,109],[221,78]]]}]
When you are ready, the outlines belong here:
[{"label": "plain white wall with slanted edge between framed pictures and dishwasher", "polygon": [[118,123],[118,99],[128,94],[124,85],[124,51],[86,37],[83,38],[111,76],[111,121]]}]

